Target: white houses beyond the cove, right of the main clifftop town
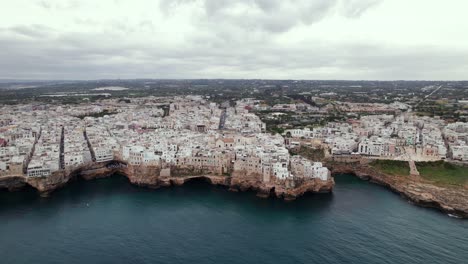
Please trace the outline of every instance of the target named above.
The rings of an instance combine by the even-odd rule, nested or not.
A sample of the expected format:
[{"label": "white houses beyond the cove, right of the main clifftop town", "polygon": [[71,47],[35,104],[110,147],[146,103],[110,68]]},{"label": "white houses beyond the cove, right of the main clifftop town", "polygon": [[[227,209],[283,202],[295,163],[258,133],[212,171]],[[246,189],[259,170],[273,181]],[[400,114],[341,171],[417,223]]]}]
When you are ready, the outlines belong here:
[{"label": "white houses beyond the cove, right of the main clifftop town", "polygon": [[325,127],[290,129],[291,145],[318,141],[332,155],[358,154],[383,159],[468,160],[468,123],[446,124],[439,118],[368,115]]}]

